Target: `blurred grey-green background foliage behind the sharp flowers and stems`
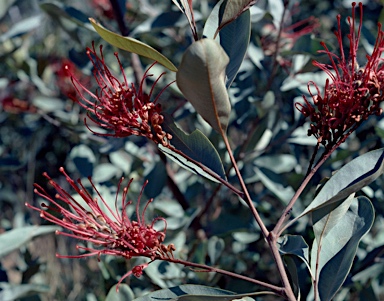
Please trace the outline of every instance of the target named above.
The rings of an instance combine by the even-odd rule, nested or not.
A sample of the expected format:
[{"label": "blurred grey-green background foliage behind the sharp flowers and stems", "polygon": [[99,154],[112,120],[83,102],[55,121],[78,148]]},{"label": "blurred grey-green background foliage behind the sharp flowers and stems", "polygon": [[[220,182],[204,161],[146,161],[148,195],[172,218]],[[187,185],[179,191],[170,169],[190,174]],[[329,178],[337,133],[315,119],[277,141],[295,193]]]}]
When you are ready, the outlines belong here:
[{"label": "blurred grey-green background foliage behind the sharp flowers and stems", "polygon": [[[73,178],[92,176],[102,195],[112,200],[121,176],[135,179],[130,190],[132,199],[148,179],[144,194],[155,198],[149,215],[167,219],[166,243],[176,245],[175,256],[278,283],[273,259],[259,229],[247,207],[234,194],[167,161],[144,138],[98,137],[84,126],[84,111],[67,96],[73,92],[73,86],[63,72],[64,64],[69,64],[83,83],[95,88],[85,53],[85,48],[95,41],[96,45],[104,45],[110,68],[119,71],[113,55],[117,50],[100,39],[88,17],[112,31],[151,45],[176,66],[193,41],[185,16],[171,1],[111,2],[119,5],[124,24],[115,21],[107,0],[0,2],[0,233],[47,224],[24,206],[25,202],[36,205],[41,201],[33,193],[33,183],[52,191],[42,177],[43,172],[64,187],[60,166]],[[215,3],[194,1],[200,34]],[[332,33],[337,25],[336,15],[349,16],[350,4],[351,1],[345,0],[289,1],[285,28],[310,17],[317,18],[319,26],[297,39],[292,38],[296,37],[294,34],[282,35],[278,53],[276,36],[283,2],[259,0],[251,9],[251,42],[229,90],[232,102],[229,139],[267,227],[277,221],[284,204],[299,186],[315,144],[313,137],[306,136],[307,124],[294,109],[294,103],[308,93],[309,80],[319,85],[324,82],[324,75],[317,72],[311,61],[327,60],[317,53],[321,40],[337,49]],[[364,4],[359,52],[362,58],[365,51],[372,49],[377,22],[383,19],[381,1]],[[346,22],[343,26],[348,29]],[[300,29],[297,27],[293,33]],[[118,52],[129,81],[137,83],[151,62]],[[157,75],[163,71],[158,65],[151,69]],[[168,72],[157,84],[155,93],[172,80],[174,74]],[[150,78],[146,84],[149,92],[153,80]],[[225,167],[230,168],[219,135],[196,115],[175,85],[161,95],[160,103],[186,132],[198,128],[205,133],[219,150]],[[383,147],[383,138],[382,117],[365,122],[317,173],[312,188],[296,204],[293,215],[309,203],[314,188],[324,177],[356,156]],[[228,178],[238,184],[232,172]],[[372,200],[376,220],[360,244],[358,263],[335,300],[384,298],[383,184],[380,177],[360,192]],[[290,228],[290,233],[303,235],[310,244],[313,233],[308,230],[308,223],[307,218],[301,219]],[[53,230],[47,228],[50,234],[15,233],[10,242],[13,250],[0,251],[0,296],[4,297],[7,291],[11,298],[6,300],[105,300],[119,276],[139,263],[108,256],[100,262],[97,258],[57,259],[55,253],[76,254],[77,242],[56,237]],[[144,274],[140,279],[126,280],[136,297],[182,283],[218,286],[238,293],[257,289],[237,279],[195,273],[166,262],[154,262]],[[302,291],[304,297],[307,293]]]}]

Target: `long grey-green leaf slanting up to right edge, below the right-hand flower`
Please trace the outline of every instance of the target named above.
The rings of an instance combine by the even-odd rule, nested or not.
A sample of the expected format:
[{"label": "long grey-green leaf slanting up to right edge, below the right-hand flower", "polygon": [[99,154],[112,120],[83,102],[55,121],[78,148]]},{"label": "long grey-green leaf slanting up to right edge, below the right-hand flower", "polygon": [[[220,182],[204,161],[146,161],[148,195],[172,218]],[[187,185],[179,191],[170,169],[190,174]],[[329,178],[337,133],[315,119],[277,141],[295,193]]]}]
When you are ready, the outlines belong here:
[{"label": "long grey-green leaf slanting up to right edge, below the right-hand flower", "polygon": [[336,172],[309,206],[297,217],[322,206],[346,199],[377,179],[384,172],[384,149],[359,156]]}]

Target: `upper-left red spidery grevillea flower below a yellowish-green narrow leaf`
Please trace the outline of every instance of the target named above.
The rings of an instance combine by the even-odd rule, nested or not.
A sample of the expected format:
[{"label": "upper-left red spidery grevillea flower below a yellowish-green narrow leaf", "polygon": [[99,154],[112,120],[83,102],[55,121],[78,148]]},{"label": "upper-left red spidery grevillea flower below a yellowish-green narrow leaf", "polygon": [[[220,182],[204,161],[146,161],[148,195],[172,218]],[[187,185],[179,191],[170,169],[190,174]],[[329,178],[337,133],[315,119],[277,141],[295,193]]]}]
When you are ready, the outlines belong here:
[{"label": "upper-left red spidery grevillea flower below a yellowish-green narrow leaf", "polygon": [[[87,48],[87,54],[94,66],[93,75],[99,89],[96,93],[92,93],[82,85],[74,74],[70,72],[70,69],[66,67],[72,83],[80,95],[80,99],[73,94],[70,95],[70,97],[88,111],[88,117],[93,122],[108,131],[113,131],[113,133],[101,134],[90,130],[102,136],[144,136],[157,144],[168,146],[172,136],[164,132],[161,127],[164,116],[161,114],[161,105],[157,103],[159,96],[167,86],[154,101],[150,100],[156,83],[164,73],[155,81],[150,94],[147,95],[143,92],[142,88],[145,79],[152,76],[148,74],[148,71],[153,65],[145,72],[140,87],[136,90],[133,84],[127,82],[123,66],[117,53],[115,53],[115,56],[123,75],[122,82],[112,74],[106,65],[102,46],[100,46],[100,56],[97,55],[94,44],[92,49]],[[88,99],[88,97],[90,97],[90,99]]]}]

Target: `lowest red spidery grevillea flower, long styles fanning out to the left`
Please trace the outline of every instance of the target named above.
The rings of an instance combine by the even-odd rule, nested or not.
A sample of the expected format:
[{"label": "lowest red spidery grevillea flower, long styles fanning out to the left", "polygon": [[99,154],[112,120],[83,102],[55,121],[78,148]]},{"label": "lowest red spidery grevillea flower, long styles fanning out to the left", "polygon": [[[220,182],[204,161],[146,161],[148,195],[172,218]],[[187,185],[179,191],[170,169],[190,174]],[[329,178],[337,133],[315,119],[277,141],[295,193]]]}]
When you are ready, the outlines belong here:
[{"label": "lowest red spidery grevillea flower, long styles fanning out to the left", "polygon": [[[123,178],[120,180],[116,192],[115,208],[111,208],[100,195],[91,178],[89,178],[89,182],[97,197],[93,197],[80,180],[77,182],[73,181],[67,175],[64,168],[60,168],[60,172],[63,173],[69,185],[83,199],[88,206],[87,209],[47,174],[44,174],[44,176],[57,192],[55,199],[37,184],[35,184],[35,193],[49,202],[49,204],[43,203],[41,205],[42,208],[48,210],[34,207],[28,203],[25,204],[27,207],[39,211],[42,218],[69,231],[69,233],[56,231],[57,235],[64,235],[91,243],[86,247],[77,246],[77,249],[85,251],[83,254],[72,256],[56,254],[57,257],[81,258],[104,254],[122,256],[126,259],[147,257],[152,261],[173,257],[172,252],[175,250],[173,244],[169,246],[163,244],[167,228],[165,219],[157,217],[149,224],[145,221],[145,211],[153,199],[147,201],[144,210],[141,213],[139,212],[140,199],[146,184],[143,186],[136,203],[136,220],[131,220],[127,215],[126,209],[132,204],[132,201],[127,201],[127,193],[132,179],[123,188],[121,208],[119,209],[118,193]],[[164,222],[164,230],[155,230],[154,224],[158,221]],[[143,268],[147,265],[142,264],[134,267],[120,279],[119,283],[131,274],[139,277],[142,274]]]}]

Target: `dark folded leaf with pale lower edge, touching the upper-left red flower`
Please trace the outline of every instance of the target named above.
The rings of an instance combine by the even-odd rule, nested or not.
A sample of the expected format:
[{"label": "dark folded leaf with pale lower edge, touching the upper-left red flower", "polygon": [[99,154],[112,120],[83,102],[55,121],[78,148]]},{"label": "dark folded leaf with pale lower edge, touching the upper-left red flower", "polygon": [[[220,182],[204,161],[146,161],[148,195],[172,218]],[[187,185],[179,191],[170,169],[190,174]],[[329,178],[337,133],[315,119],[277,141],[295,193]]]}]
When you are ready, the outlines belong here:
[{"label": "dark folded leaf with pale lower edge, touching the upper-left red flower", "polygon": [[[218,182],[217,179],[209,175],[193,161],[201,163],[222,179],[226,179],[223,163],[217,150],[201,131],[195,130],[191,134],[186,134],[168,116],[163,123],[163,129],[172,135],[170,143],[178,151],[173,151],[170,148],[159,145],[160,150],[169,158],[181,167],[206,177],[211,181]],[[182,154],[185,154],[185,156],[182,156]]]}]

